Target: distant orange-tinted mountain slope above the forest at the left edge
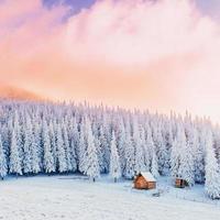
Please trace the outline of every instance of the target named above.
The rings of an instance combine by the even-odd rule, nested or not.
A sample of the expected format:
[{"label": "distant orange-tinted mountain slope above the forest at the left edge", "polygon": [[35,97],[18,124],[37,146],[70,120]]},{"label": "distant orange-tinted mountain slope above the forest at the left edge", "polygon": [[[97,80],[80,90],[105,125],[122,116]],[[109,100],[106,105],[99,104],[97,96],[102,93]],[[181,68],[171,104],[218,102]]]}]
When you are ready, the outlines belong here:
[{"label": "distant orange-tinted mountain slope above the forest at the left edge", "polygon": [[43,98],[25,89],[0,85],[0,98],[42,100]]}]

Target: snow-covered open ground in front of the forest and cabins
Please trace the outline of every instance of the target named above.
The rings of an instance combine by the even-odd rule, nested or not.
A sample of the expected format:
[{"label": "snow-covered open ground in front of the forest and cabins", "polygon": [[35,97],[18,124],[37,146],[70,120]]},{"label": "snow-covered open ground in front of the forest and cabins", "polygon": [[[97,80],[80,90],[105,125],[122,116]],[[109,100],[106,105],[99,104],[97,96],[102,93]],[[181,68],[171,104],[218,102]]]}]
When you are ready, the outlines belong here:
[{"label": "snow-covered open ground in front of the forest and cabins", "polygon": [[107,177],[95,184],[76,175],[10,177],[0,183],[0,219],[220,219],[220,204],[209,204],[201,186],[175,189],[162,178],[158,188],[164,190],[160,198],[152,197],[154,191],[132,189],[131,182],[114,184]]}]

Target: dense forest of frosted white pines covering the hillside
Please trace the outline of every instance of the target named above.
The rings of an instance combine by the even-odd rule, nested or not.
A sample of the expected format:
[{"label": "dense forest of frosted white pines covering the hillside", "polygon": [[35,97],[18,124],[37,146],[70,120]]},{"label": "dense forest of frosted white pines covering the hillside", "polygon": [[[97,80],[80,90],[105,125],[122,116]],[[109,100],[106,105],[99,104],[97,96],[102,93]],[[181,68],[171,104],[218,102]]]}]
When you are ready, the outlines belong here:
[{"label": "dense forest of frosted white pines covering the hillside", "polygon": [[[207,119],[102,106],[0,101],[0,175],[81,173],[132,179],[150,170],[220,198],[220,129]],[[6,182],[7,185],[7,182]]]}]

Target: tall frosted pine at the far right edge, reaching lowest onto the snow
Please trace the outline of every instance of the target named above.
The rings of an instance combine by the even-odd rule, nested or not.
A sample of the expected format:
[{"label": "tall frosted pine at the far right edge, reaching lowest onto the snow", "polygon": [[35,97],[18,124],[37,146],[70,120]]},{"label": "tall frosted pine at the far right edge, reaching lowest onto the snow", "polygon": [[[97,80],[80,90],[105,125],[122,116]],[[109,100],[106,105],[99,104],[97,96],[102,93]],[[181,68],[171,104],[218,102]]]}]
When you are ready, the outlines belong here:
[{"label": "tall frosted pine at the far right edge, reaching lowest onto the snow", "polygon": [[211,199],[220,198],[220,173],[213,150],[213,136],[210,130],[206,134],[206,182],[205,189]]}]

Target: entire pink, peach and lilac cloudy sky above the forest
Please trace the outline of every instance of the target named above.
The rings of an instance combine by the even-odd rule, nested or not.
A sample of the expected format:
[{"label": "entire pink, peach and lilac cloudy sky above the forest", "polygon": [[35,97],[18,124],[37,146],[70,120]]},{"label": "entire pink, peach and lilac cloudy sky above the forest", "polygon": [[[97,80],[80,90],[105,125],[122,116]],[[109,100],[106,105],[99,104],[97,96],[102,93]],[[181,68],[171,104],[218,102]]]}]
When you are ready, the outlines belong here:
[{"label": "entire pink, peach and lilac cloudy sky above the forest", "polygon": [[0,0],[0,84],[220,121],[219,0]]}]

